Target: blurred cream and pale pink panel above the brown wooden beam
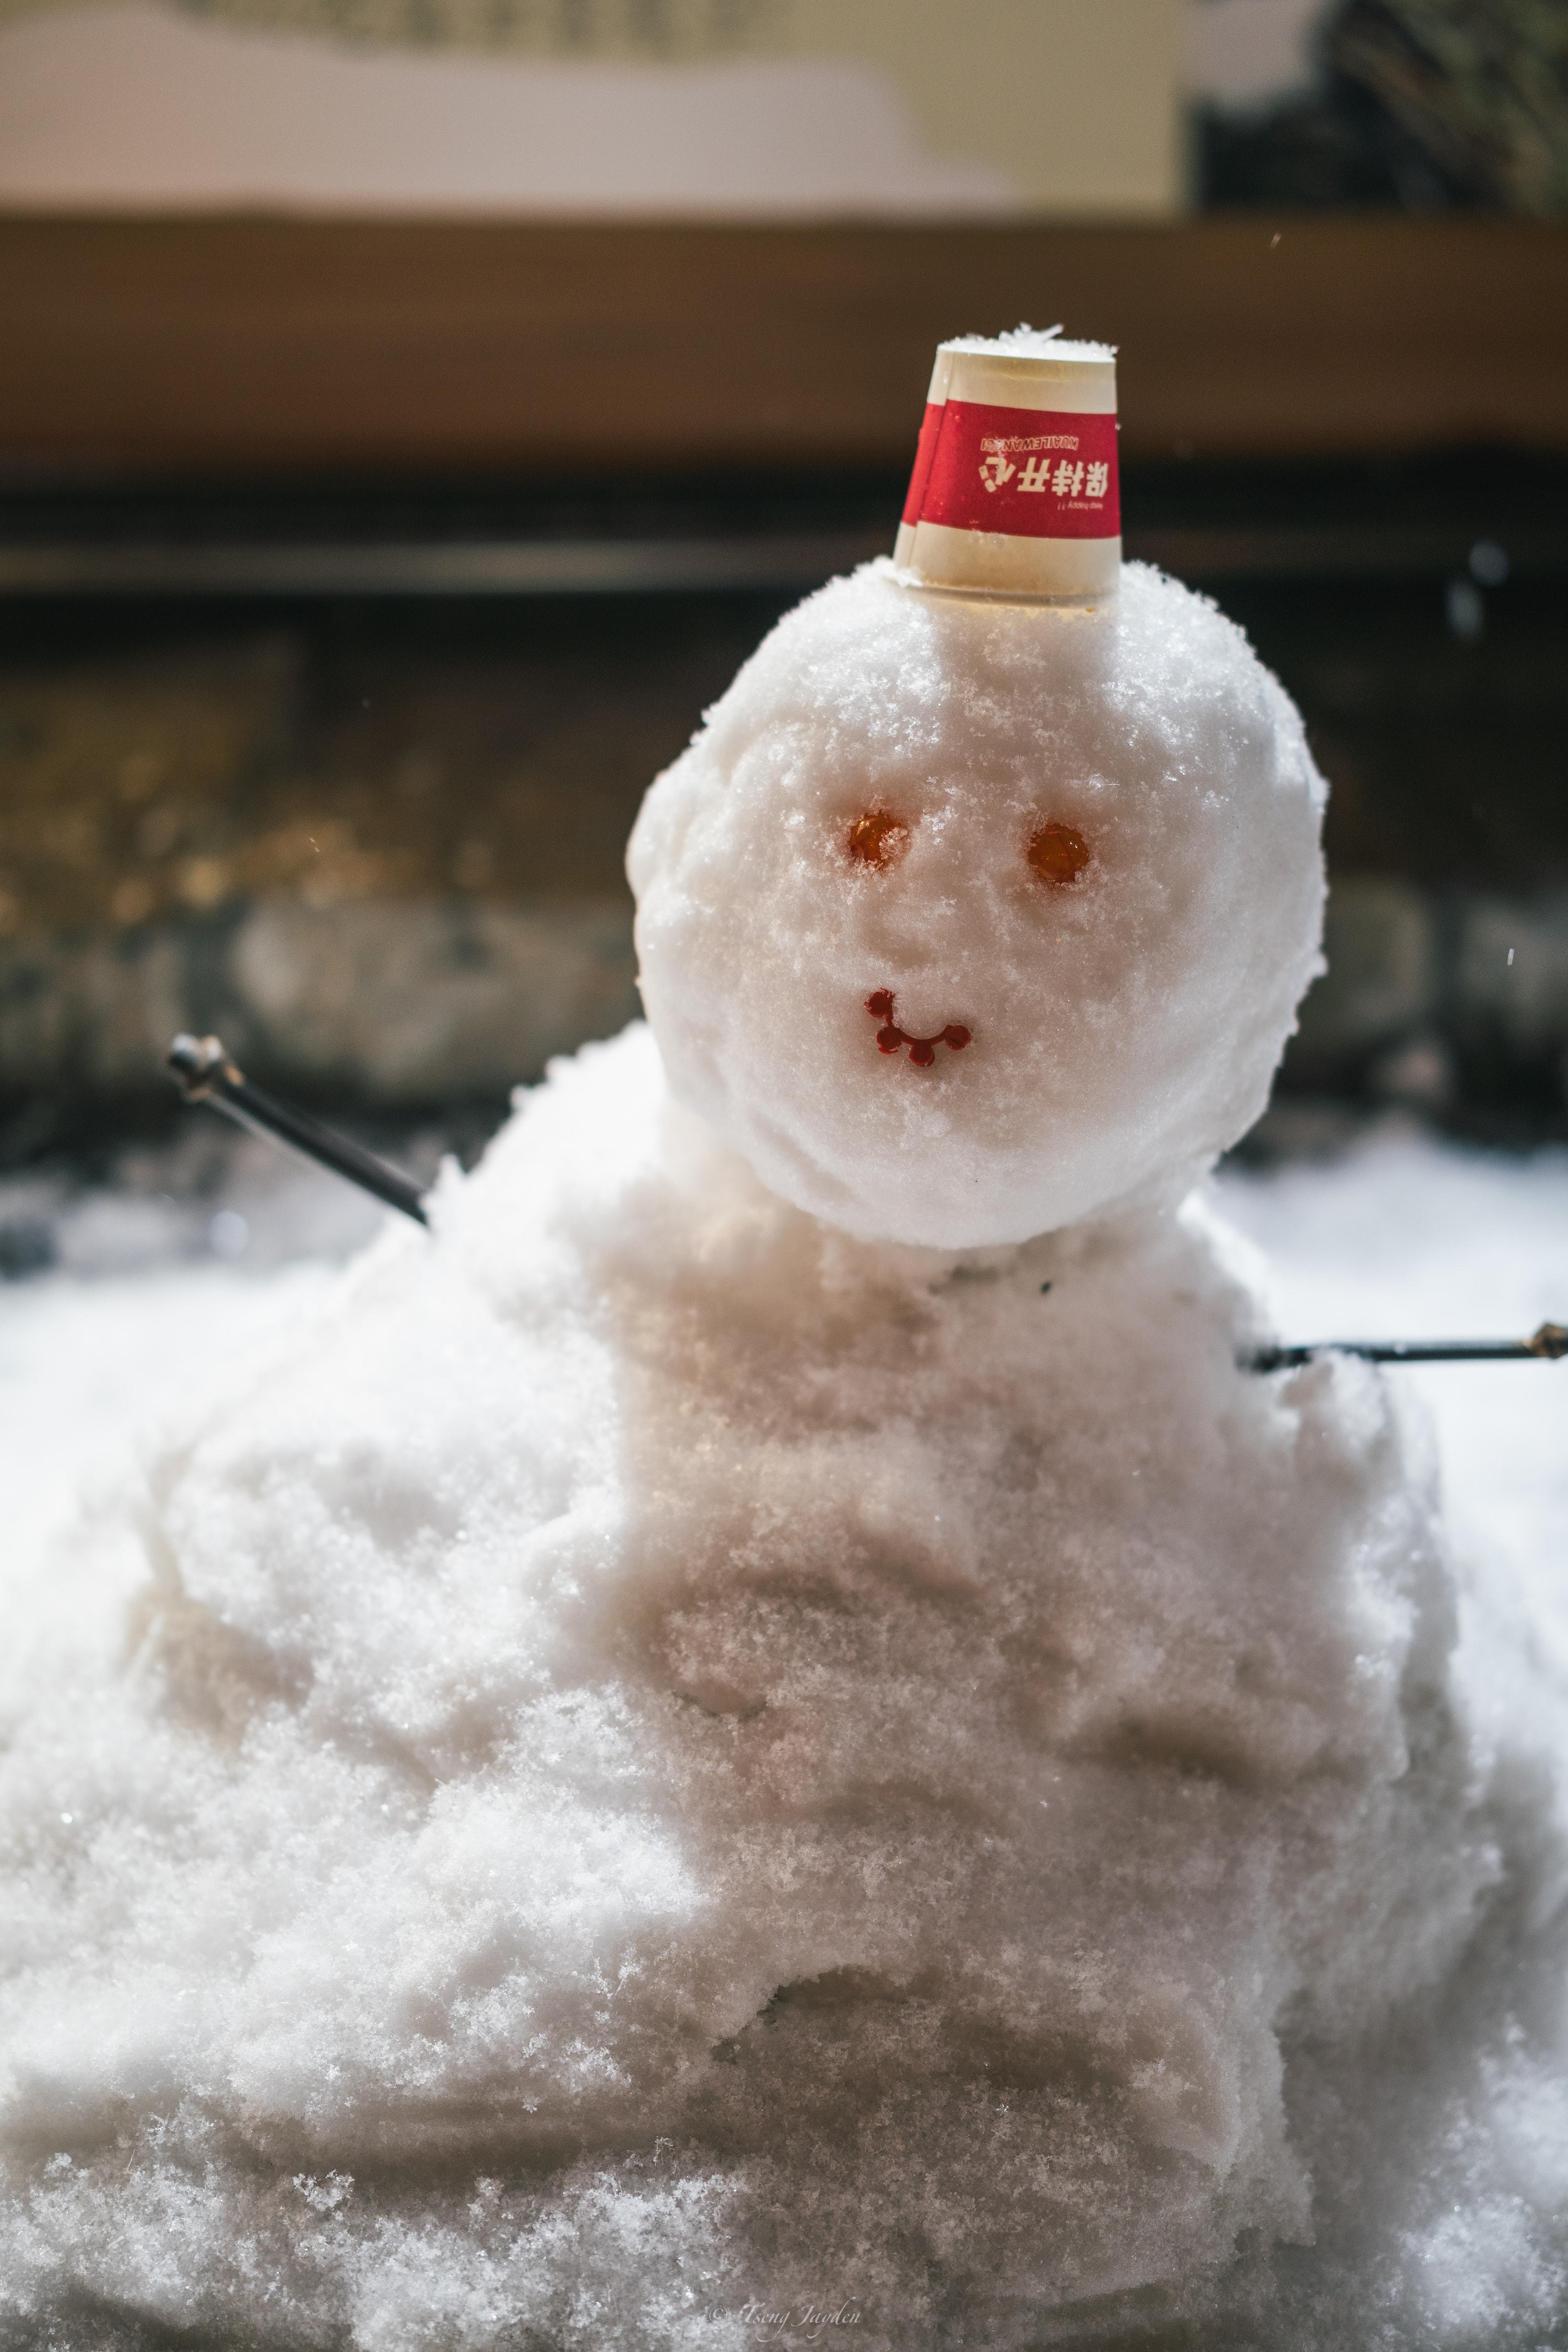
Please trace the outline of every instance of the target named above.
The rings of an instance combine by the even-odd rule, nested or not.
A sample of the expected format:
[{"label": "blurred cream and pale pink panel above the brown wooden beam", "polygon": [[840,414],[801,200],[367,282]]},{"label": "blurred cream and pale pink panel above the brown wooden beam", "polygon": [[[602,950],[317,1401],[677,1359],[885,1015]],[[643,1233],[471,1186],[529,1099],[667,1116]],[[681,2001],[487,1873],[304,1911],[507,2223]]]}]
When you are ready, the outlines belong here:
[{"label": "blurred cream and pale pink panel above the brown wooden beam", "polygon": [[1182,0],[0,0],[0,202],[1150,216]]}]

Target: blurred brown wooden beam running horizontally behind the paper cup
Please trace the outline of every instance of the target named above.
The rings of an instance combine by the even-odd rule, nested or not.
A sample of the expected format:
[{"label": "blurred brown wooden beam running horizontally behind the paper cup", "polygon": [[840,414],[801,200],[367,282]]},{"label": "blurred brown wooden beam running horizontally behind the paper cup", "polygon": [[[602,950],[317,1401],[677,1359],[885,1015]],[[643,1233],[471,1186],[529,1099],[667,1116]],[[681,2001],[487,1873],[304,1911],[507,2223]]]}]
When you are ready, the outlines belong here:
[{"label": "blurred brown wooden beam running horizontally behind the paper cup", "polygon": [[1121,346],[1128,456],[1568,447],[1568,228],[0,216],[0,468],[903,463],[933,343]]}]

